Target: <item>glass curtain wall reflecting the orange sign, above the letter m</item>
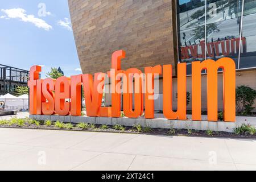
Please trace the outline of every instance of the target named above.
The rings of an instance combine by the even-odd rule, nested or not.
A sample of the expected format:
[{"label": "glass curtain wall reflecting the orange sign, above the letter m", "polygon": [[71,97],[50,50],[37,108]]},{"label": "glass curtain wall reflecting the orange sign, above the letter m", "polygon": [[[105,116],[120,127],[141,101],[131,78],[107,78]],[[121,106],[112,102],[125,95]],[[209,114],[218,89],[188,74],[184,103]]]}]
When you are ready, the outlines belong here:
[{"label": "glass curtain wall reflecting the orange sign, above the letter m", "polygon": [[253,0],[177,0],[179,61],[187,63],[187,74],[192,61],[221,57],[232,58],[237,69],[256,67],[255,19]]}]

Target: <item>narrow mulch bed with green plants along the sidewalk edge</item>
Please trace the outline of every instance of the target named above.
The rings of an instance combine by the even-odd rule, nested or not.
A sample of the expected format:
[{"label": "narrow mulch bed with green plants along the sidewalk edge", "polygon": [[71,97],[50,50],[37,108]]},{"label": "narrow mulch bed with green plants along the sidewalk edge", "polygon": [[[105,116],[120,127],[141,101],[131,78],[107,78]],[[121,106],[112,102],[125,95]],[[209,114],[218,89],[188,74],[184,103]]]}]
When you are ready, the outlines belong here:
[{"label": "narrow mulch bed with green plants along the sidewalk edge", "polygon": [[[73,123],[75,126],[76,124]],[[188,130],[186,129],[174,129],[175,134],[168,134],[168,131],[170,129],[151,129],[151,131],[145,133],[145,132],[137,132],[135,131],[134,127],[125,126],[125,131],[119,131],[115,130],[112,127],[108,126],[109,129],[100,129],[101,125],[95,125],[96,129],[80,129],[77,127],[73,127],[73,129],[59,129],[55,127],[54,125],[51,125],[49,127],[45,125],[28,125],[28,123],[25,123],[24,126],[18,126],[18,125],[0,125],[0,128],[11,128],[11,129],[39,129],[39,130],[63,130],[63,131],[89,131],[89,132],[105,132],[105,133],[126,133],[126,134],[149,134],[149,135],[165,135],[165,136],[186,136],[186,137],[221,137],[221,138],[245,138],[245,139],[256,139],[256,134],[250,135],[250,134],[234,134],[234,133],[227,133],[227,132],[217,132],[213,131],[212,135],[208,135],[206,131],[201,130],[192,130],[191,134],[188,134]]]}]

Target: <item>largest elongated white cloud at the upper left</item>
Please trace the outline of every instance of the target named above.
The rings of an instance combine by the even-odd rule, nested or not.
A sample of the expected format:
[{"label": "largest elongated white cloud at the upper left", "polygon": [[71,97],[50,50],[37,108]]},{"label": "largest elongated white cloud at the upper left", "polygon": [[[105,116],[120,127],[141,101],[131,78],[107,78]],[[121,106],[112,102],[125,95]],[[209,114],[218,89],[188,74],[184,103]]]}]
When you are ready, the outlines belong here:
[{"label": "largest elongated white cloud at the upper left", "polygon": [[26,10],[17,8],[17,9],[7,9],[1,10],[3,13],[6,13],[8,18],[19,19],[22,22],[33,23],[38,28],[43,28],[48,31],[52,29],[52,26],[46,23],[43,19],[35,18],[34,15],[27,15]]}]

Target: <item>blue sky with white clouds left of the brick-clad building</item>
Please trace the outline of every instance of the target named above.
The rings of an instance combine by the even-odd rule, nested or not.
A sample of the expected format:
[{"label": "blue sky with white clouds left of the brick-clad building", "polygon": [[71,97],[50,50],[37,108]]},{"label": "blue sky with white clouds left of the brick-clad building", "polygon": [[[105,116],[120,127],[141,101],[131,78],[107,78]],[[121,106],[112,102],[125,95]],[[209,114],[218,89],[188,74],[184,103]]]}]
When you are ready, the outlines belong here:
[{"label": "blue sky with white clouds left of the brick-clad building", "polygon": [[65,76],[80,74],[68,1],[0,1],[0,64],[43,65],[42,78],[51,67]]}]

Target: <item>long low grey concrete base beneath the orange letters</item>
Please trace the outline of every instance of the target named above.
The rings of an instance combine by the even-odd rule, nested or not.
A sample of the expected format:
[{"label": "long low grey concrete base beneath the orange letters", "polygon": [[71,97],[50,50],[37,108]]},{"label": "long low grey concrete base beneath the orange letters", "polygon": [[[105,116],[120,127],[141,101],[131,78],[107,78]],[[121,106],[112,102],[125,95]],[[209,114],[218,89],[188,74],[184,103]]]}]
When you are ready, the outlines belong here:
[{"label": "long low grey concrete base beneath the orange letters", "polygon": [[209,122],[209,121],[192,121],[192,120],[168,120],[164,118],[144,119],[144,118],[103,118],[103,117],[73,117],[59,115],[30,115],[30,118],[44,121],[72,122],[72,123],[94,123],[98,125],[123,125],[133,126],[141,124],[142,127],[162,128],[162,129],[193,129],[193,130],[212,130],[226,131],[232,133],[236,127],[234,122]]}]

